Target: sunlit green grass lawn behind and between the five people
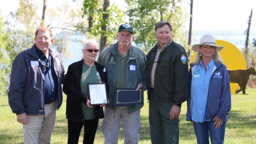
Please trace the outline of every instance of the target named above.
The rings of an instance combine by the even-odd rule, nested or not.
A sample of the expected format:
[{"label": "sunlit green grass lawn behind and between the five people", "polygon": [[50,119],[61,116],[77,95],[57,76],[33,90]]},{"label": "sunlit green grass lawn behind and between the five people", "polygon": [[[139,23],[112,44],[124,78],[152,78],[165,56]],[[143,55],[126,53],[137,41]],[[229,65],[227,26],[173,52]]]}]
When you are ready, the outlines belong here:
[{"label": "sunlit green grass lawn behind and between the five people", "polygon": [[[256,143],[256,89],[246,89],[249,95],[232,94],[232,108],[229,112],[229,122],[226,124],[225,141],[227,144],[254,144]],[[141,109],[140,144],[150,144],[148,124],[147,94],[144,92],[144,107]],[[65,115],[66,96],[63,104],[57,111],[56,123],[52,132],[52,144],[64,144],[68,139],[68,124]],[[196,143],[194,129],[190,122],[186,121],[186,102],[182,105],[180,114],[180,143]],[[16,115],[12,113],[6,96],[0,97],[0,143],[23,143],[22,125],[17,122]],[[83,130],[79,143],[83,143]],[[101,130],[101,120],[95,136],[95,144],[104,142]],[[123,129],[120,129],[119,143],[124,143]]]}]

